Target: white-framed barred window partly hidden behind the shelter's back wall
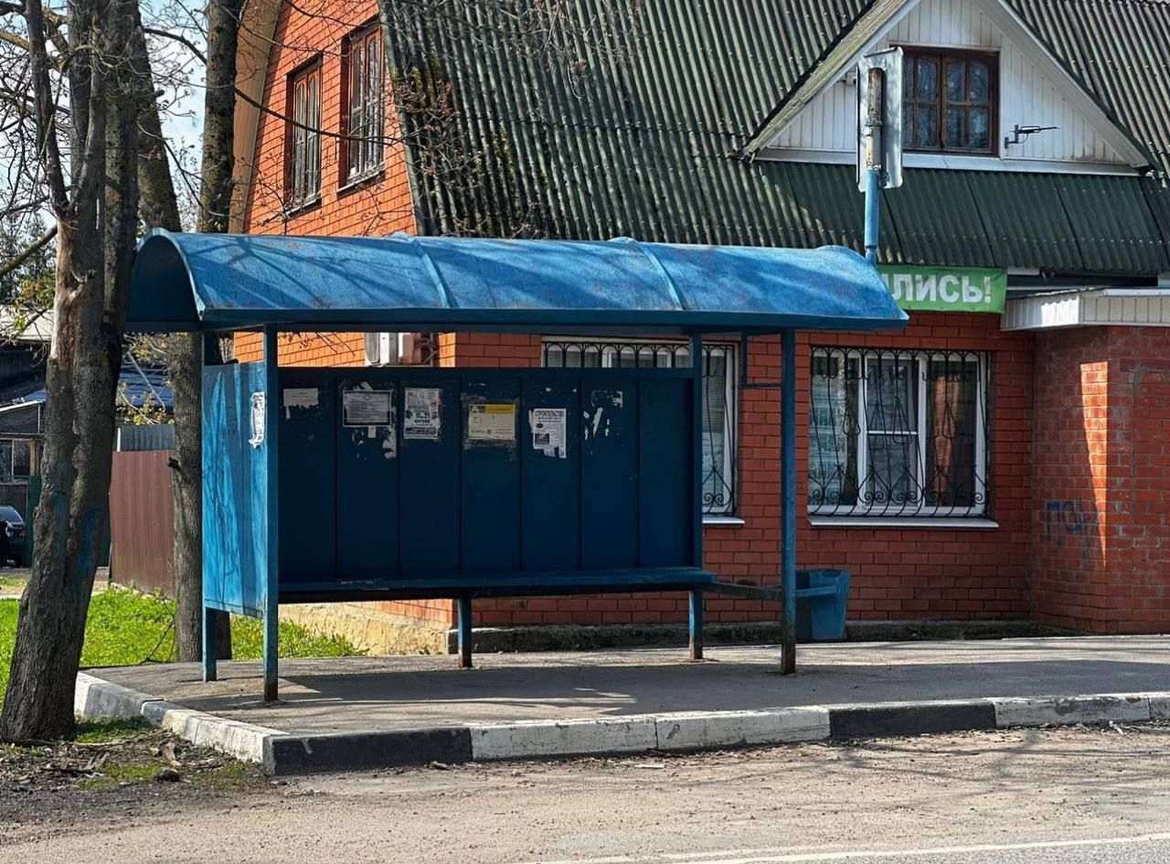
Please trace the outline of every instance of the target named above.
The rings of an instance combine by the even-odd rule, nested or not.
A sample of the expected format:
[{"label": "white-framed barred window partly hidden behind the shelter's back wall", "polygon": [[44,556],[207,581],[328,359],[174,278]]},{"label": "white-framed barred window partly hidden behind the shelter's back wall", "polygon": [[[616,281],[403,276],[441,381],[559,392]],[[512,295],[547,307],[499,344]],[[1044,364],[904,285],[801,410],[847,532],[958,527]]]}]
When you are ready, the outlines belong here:
[{"label": "white-framed barred window partly hidden behind the shelter's back wall", "polygon": [[[736,349],[703,345],[703,513],[735,510]],[[681,342],[545,340],[542,364],[562,369],[689,369]]]}]

